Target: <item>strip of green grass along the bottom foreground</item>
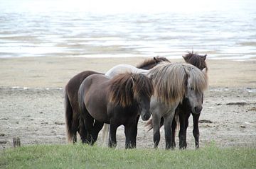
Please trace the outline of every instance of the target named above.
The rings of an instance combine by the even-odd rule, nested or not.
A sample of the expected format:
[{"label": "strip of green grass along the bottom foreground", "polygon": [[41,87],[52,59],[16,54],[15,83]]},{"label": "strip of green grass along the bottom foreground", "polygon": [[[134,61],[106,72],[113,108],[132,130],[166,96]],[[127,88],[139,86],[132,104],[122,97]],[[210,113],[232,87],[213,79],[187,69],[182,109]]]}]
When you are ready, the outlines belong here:
[{"label": "strip of green grass along the bottom foreground", "polygon": [[36,145],[0,151],[0,168],[256,168],[256,148],[165,151]]}]

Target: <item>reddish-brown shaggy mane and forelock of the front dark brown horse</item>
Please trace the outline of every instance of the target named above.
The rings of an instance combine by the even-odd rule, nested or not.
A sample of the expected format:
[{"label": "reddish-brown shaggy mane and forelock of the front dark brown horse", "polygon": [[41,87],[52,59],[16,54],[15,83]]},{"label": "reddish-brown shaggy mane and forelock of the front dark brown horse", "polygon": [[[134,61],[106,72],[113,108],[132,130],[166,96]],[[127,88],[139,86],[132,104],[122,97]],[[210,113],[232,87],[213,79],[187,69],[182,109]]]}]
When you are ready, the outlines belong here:
[{"label": "reddish-brown shaggy mane and forelock of the front dark brown horse", "polygon": [[141,95],[151,96],[154,86],[151,80],[142,74],[124,73],[110,80],[109,99],[114,105],[127,107],[132,105],[134,98]]}]

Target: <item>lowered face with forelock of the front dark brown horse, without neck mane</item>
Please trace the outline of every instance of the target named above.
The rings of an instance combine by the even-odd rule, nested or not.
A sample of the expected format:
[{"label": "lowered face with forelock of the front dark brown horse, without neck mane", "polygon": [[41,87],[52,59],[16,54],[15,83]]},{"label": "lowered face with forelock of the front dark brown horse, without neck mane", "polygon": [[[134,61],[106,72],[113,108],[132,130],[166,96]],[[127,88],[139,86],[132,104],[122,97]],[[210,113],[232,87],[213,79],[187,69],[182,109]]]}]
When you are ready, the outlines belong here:
[{"label": "lowered face with forelock of the front dark brown horse, without neck mane", "polygon": [[143,74],[132,74],[134,102],[139,107],[139,114],[142,116],[142,120],[149,120],[151,116],[150,110],[150,98],[154,94],[154,86],[150,78]]}]

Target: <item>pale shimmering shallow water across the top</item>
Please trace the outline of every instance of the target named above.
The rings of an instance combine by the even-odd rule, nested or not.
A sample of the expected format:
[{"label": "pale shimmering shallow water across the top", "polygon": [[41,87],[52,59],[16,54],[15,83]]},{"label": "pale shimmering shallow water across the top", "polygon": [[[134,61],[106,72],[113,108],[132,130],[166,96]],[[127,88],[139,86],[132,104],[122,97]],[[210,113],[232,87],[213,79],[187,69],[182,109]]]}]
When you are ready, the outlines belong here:
[{"label": "pale shimmering shallow water across the top", "polygon": [[0,0],[0,57],[180,58],[193,49],[212,59],[256,58],[256,1],[153,12],[32,2]]}]

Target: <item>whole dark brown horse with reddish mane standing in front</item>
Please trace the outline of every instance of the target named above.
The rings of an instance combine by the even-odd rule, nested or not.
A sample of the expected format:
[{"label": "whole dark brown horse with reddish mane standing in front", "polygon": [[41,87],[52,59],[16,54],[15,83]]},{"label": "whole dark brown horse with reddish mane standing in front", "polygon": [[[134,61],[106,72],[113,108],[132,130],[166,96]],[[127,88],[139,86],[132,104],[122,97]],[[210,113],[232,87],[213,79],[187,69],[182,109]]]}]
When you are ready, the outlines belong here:
[{"label": "whole dark brown horse with reddish mane standing in front", "polygon": [[141,115],[142,120],[149,120],[153,93],[151,79],[143,74],[124,73],[114,78],[94,74],[85,78],[78,90],[78,103],[88,143],[95,143],[100,132],[98,127],[107,123],[110,124],[109,147],[117,145],[117,127],[124,125],[125,148],[135,148],[137,117]]}]

